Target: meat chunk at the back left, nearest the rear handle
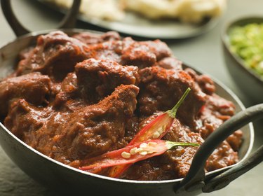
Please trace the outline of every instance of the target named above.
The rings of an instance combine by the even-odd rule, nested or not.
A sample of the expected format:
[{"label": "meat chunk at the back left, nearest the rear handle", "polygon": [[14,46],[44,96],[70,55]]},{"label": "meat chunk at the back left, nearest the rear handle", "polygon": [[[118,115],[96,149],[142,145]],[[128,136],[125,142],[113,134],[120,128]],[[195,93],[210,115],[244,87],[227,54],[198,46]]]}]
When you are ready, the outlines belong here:
[{"label": "meat chunk at the back left, nearest the rear handle", "polygon": [[87,45],[62,31],[39,36],[36,47],[18,64],[17,75],[33,71],[48,74],[53,80],[62,80],[74,71],[77,62],[87,58]]}]

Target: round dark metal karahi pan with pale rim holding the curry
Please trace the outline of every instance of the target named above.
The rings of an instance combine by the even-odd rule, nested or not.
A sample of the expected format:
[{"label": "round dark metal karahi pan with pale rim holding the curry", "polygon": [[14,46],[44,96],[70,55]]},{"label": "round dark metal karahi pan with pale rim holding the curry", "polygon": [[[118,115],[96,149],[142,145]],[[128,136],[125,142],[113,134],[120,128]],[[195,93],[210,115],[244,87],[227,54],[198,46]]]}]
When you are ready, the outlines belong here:
[{"label": "round dark metal karahi pan with pale rim holding the curry", "polygon": [[[80,1],[74,1],[72,10],[62,22],[60,28],[73,28],[76,10]],[[10,1],[2,0],[1,7],[9,24],[18,37],[15,41],[4,45],[0,49],[0,79],[11,73],[13,65],[19,52],[32,45],[36,37],[47,34],[48,31],[29,33],[16,20],[11,10]],[[83,29],[64,29],[65,33],[72,35]],[[99,32],[97,32],[99,33]],[[184,67],[191,66],[184,65]],[[200,71],[196,71],[201,73]],[[215,81],[215,80],[214,80]],[[72,193],[74,195],[198,195],[198,193],[208,193],[227,186],[227,184],[238,176],[255,167],[263,160],[263,147],[261,146],[255,153],[248,155],[252,149],[254,141],[254,130],[252,120],[263,118],[263,104],[245,109],[236,95],[220,82],[215,81],[217,94],[229,99],[236,105],[238,113],[221,125],[217,131],[206,139],[197,151],[191,164],[189,173],[184,179],[174,179],[168,181],[131,181],[123,179],[112,179],[97,174],[89,174],[79,169],[63,165],[62,163],[48,158],[39,153],[24,142],[0,123],[0,143],[6,154],[33,179],[39,181],[49,188]],[[249,123],[249,124],[248,124]],[[243,127],[244,126],[244,127]],[[239,151],[241,161],[236,165],[217,169],[205,174],[203,168],[205,160],[215,148],[235,130],[242,128],[243,145]]]}]

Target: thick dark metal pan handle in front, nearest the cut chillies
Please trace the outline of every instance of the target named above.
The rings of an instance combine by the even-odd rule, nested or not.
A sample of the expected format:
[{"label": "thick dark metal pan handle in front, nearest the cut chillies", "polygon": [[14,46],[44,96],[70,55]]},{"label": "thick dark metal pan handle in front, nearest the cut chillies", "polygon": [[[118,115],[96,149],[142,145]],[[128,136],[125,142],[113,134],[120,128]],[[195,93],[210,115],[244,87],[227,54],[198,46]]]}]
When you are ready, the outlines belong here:
[{"label": "thick dark metal pan handle in front, nearest the cut chillies", "polygon": [[232,167],[219,176],[215,176],[213,179],[205,181],[205,162],[208,160],[215,148],[217,148],[222,141],[227,139],[227,137],[233,134],[236,130],[259,118],[263,118],[263,104],[251,106],[250,108],[237,113],[235,116],[218,127],[215,132],[210,134],[208,139],[206,139],[200,146],[196,155],[194,155],[187,176],[184,177],[179,186],[174,188],[175,193],[180,193],[182,191],[191,192],[200,188],[202,188],[203,193],[210,193],[214,190],[219,190],[227,186],[234,179],[238,178],[238,176],[245,174],[245,172],[248,172],[248,170],[262,162],[263,145],[259,147],[255,153],[250,155],[249,158],[241,162],[240,165]]}]

